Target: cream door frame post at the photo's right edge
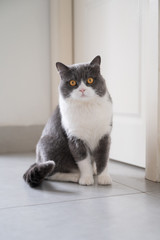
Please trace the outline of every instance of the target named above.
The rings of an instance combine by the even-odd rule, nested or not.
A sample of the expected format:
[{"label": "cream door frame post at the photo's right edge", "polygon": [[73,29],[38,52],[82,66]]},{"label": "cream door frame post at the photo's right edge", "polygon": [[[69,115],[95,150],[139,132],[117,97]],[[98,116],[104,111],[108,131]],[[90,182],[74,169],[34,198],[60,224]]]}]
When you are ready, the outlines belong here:
[{"label": "cream door frame post at the photo's right edge", "polygon": [[146,178],[160,182],[160,4],[148,4]]}]

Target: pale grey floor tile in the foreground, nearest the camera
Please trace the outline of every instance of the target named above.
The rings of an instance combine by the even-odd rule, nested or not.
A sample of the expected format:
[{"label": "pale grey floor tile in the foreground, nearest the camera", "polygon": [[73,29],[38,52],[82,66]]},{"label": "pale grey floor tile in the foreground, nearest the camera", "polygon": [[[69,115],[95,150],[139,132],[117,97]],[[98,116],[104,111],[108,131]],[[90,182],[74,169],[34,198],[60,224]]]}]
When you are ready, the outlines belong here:
[{"label": "pale grey floor tile in the foreground, nearest the camera", "polygon": [[1,239],[159,240],[160,202],[149,194],[0,210]]}]

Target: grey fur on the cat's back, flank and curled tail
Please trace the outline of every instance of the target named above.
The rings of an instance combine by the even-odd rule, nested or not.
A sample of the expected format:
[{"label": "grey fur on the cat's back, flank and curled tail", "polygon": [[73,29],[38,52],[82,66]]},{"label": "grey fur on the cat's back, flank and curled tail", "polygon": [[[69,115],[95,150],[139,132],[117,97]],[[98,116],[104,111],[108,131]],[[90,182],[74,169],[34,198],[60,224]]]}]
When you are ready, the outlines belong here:
[{"label": "grey fur on the cat's back, flank and curled tail", "polygon": [[37,144],[36,154],[37,163],[33,164],[23,176],[24,180],[31,187],[38,186],[51,172],[50,168],[43,171],[42,168],[38,167],[39,163],[53,160],[55,167],[52,170],[52,174],[56,172],[69,173],[78,170],[68,146],[67,135],[61,125],[59,106],[42,132],[42,136]]}]

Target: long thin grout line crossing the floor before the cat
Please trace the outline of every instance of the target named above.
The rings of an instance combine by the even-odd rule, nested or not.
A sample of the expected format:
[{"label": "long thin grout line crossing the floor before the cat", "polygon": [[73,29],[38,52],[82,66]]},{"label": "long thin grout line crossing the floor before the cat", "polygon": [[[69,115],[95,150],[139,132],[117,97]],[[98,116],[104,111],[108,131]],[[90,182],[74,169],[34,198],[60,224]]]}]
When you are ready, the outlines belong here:
[{"label": "long thin grout line crossing the floor before the cat", "polygon": [[15,208],[35,207],[35,206],[43,206],[43,205],[51,205],[51,204],[59,204],[59,203],[70,203],[70,202],[105,199],[105,198],[107,199],[107,198],[111,198],[111,197],[123,197],[123,196],[130,196],[130,195],[139,195],[139,194],[142,194],[142,193],[143,192],[127,193],[127,194],[118,194],[118,195],[110,195],[110,196],[102,196],[102,197],[81,198],[81,199],[55,201],[55,202],[48,202],[48,203],[38,203],[38,204],[30,204],[30,205],[22,205],[22,206],[4,207],[4,208],[0,208],[0,211],[1,210],[7,210],[7,209],[15,209]]}]

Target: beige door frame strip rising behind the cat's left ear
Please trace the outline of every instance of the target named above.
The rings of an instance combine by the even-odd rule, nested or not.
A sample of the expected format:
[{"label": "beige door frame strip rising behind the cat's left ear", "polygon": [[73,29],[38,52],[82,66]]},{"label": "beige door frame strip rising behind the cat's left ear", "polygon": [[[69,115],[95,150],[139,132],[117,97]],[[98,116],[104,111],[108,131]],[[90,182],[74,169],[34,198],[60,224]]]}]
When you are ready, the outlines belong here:
[{"label": "beige door frame strip rising behind the cat's left ear", "polygon": [[72,0],[50,0],[51,111],[58,104],[56,62],[73,63]]}]

